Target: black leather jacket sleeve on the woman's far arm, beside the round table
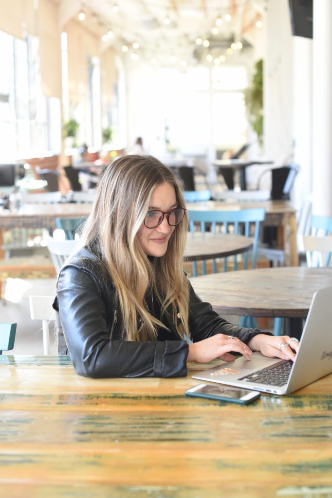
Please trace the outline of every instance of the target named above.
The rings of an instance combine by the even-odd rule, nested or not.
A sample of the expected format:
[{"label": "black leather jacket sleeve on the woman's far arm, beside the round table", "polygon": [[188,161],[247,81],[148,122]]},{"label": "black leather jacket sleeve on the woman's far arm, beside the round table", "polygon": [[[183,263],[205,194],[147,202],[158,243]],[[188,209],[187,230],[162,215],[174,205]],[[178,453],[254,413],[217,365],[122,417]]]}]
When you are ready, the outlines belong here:
[{"label": "black leather jacket sleeve on the woman's far arm, beside the round table", "polygon": [[273,335],[259,329],[246,329],[228,323],[213,311],[211,304],[203,302],[189,285],[189,329],[193,342],[202,341],[216,334],[225,334],[238,337],[248,344],[250,339],[257,334]]}]

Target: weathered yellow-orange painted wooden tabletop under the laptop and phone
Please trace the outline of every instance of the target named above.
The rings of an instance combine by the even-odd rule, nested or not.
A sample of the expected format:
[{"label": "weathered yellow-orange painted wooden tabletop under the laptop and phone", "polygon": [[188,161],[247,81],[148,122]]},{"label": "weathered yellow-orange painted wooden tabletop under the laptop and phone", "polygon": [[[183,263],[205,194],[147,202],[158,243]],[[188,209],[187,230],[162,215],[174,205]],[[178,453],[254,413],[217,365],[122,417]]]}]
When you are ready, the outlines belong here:
[{"label": "weathered yellow-orange painted wooden tabletop under the laptop and phone", "polygon": [[241,406],[184,396],[204,368],[89,379],[68,357],[1,356],[0,496],[330,497],[332,374]]}]

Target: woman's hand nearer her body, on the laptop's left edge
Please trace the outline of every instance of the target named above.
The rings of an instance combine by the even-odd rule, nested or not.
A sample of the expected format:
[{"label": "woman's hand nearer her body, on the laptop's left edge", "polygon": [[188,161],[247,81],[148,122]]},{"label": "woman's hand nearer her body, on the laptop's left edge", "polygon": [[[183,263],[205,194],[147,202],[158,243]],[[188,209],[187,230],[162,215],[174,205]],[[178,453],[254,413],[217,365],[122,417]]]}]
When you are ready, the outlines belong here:
[{"label": "woman's hand nearer her body, on the laptop's left edge", "polygon": [[203,341],[189,344],[187,362],[207,363],[211,360],[231,362],[234,356],[229,351],[240,353],[246,360],[250,360],[251,349],[240,339],[225,334],[216,334]]}]

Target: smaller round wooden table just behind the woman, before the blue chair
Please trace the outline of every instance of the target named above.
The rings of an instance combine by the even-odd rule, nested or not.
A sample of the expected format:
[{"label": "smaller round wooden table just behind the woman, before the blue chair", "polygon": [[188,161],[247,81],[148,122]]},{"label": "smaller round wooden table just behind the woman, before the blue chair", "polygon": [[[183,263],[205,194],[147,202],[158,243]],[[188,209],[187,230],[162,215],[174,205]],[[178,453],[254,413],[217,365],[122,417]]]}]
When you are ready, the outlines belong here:
[{"label": "smaller round wooden table just behind the woman, before the blue chair", "polygon": [[242,235],[191,232],[187,235],[186,261],[214,259],[240,254],[250,249],[252,239]]}]

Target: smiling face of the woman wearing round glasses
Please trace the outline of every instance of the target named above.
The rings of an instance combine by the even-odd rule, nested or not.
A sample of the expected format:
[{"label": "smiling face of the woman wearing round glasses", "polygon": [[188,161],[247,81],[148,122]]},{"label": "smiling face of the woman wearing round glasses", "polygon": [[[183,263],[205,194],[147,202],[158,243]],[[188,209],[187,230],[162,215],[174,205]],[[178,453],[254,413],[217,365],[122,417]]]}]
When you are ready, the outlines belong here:
[{"label": "smiling face of the woman wearing round glasses", "polygon": [[[169,183],[158,185],[152,192],[149,211],[158,209],[166,212],[176,208],[175,189]],[[156,228],[142,226],[138,232],[139,243],[147,256],[164,256],[167,250],[168,241],[174,232],[175,227],[168,225],[167,217],[164,216],[162,223]]]}]

